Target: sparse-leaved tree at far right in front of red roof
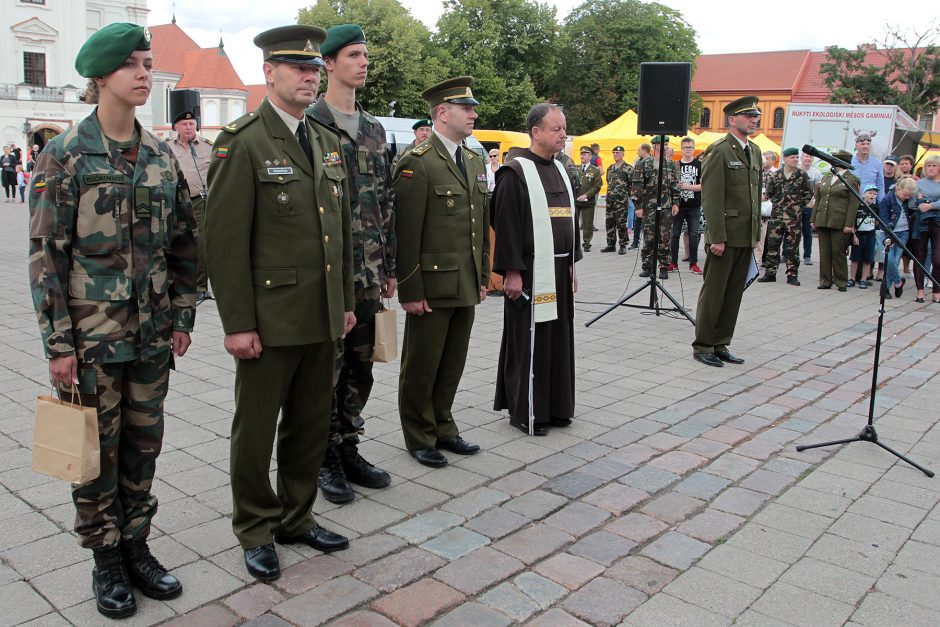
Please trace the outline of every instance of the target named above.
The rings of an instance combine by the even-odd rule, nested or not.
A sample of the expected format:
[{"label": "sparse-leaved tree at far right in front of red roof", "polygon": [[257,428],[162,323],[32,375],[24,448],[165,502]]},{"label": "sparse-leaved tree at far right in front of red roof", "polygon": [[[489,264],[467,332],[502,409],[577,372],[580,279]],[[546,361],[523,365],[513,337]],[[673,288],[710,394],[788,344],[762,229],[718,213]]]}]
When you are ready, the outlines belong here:
[{"label": "sparse-leaved tree at far right in front of red roof", "polygon": [[913,31],[889,26],[878,44],[829,48],[819,69],[832,90],[830,102],[893,104],[915,119],[935,113],[940,107],[938,37],[936,22]]}]

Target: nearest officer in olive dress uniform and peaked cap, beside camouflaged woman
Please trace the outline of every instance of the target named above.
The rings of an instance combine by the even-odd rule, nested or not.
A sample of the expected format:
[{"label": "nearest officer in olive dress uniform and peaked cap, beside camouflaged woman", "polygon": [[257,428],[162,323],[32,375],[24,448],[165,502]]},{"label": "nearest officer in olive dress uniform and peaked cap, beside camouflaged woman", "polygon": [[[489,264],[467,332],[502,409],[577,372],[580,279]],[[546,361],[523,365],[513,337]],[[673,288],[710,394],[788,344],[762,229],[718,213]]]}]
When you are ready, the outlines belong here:
[{"label": "nearest officer in olive dress uniform and peaked cap, beside camouflaged woman", "polygon": [[[336,341],[356,323],[342,148],[304,115],[320,87],[324,37],[313,26],[255,37],[267,97],[222,127],[209,166],[206,258],[235,358],[232,527],[249,574],[264,581],[281,574],[272,538],[324,552],[349,546],[311,514]],[[275,437],[277,492],[268,478]]]}]

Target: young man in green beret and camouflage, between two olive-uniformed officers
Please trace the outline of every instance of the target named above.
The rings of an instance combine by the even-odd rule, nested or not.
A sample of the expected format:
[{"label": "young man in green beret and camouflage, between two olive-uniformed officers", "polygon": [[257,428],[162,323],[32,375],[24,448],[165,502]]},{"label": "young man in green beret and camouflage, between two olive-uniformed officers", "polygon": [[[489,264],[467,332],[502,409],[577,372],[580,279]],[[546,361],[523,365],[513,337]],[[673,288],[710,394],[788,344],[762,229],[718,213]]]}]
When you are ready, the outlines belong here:
[{"label": "young man in green beret and camouflage, between two olive-uniformed officers", "polygon": [[320,489],[332,503],[348,503],[354,495],[349,482],[366,488],[391,483],[387,472],[359,454],[363,433],[362,410],[369,400],[375,314],[382,298],[395,294],[395,193],[386,161],[385,128],[356,102],[356,89],[365,87],[369,49],[358,24],[326,31],[320,47],[329,78],[326,94],[307,112],[340,138],[349,180],[352,209],[353,282],[356,326],[337,342],[336,380],[330,443],[320,467]]}]

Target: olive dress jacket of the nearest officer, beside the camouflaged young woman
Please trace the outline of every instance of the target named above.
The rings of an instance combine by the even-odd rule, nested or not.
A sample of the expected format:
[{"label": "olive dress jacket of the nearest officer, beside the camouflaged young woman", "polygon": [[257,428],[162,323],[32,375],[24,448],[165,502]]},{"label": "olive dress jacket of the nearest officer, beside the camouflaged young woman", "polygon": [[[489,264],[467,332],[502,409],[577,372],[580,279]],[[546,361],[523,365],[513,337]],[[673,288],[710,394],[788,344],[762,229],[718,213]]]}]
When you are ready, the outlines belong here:
[{"label": "olive dress jacket of the nearest officer, beside the camouflaged young woman", "polygon": [[306,115],[313,165],[267,98],[222,128],[209,165],[206,257],[225,333],[266,346],[338,339],[355,307],[339,137]]}]

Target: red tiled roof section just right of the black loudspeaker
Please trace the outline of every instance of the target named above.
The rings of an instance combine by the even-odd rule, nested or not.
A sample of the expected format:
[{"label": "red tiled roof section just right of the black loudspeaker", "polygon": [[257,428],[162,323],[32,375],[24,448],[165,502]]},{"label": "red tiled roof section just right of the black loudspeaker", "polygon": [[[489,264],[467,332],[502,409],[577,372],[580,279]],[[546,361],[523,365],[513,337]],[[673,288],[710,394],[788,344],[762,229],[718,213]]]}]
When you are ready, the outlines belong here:
[{"label": "red tiled roof section just right of the black loudspeaker", "polygon": [[703,54],[695,61],[696,92],[790,91],[801,76],[809,50]]}]

